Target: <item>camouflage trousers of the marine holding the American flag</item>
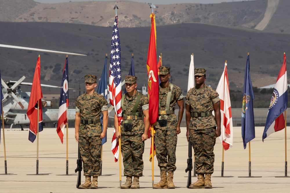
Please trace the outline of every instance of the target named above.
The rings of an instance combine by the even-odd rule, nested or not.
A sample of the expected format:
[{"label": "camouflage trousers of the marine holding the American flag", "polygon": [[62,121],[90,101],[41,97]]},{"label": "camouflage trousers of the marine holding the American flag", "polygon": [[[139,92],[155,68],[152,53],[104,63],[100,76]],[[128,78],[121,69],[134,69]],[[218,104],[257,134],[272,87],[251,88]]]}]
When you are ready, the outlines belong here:
[{"label": "camouflage trousers of the marine holding the American flag", "polygon": [[142,135],[122,135],[121,153],[123,156],[124,176],[143,175],[144,141]]}]

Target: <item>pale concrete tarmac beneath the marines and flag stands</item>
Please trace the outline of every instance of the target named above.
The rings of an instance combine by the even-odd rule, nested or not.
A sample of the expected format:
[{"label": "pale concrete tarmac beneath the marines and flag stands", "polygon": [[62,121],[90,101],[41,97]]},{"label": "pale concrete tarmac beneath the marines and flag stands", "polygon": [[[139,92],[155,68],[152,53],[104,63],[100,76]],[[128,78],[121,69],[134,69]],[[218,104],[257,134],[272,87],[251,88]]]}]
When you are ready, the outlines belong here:
[{"label": "pale concrete tarmac beneath the marines and flag stands", "polygon": [[[152,189],[152,170],[149,162],[151,140],[145,141],[143,154],[144,171],[140,177],[139,190],[119,188],[119,162],[115,163],[111,152],[113,128],[108,128],[108,142],[102,154],[102,176],[98,178],[99,189],[77,189],[77,142],[74,128],[68,129],[68,174],[66,174],[66,132],[61,144],[55,128],[44,128],[39,133],[39,175],[36,174],[37,139],[28,140],[25,131],[5,129],[7,175],[4,167],[3,132],[0,144],[0,192],[289,192],[290,178],[285,176],[285,130],[271,134],[262,142],[263,127],[256,127],[256,138],[251,141],[251,176],[249,177],[249,143],[244,150],[241,128],[233,128],[233,147],[224,151],[224,177],[221,177],[222,145],[216,141],[215,164],[212,175],[213,189],[186,188],[188,173],[185,173],[188,158],[186,128],[181,128],[176,150],[176,166],[173,181],[176,189]],[[289,137],[288,137],[289,143]],[[290,144],[288,145],[288,147]],[[287,148],[289,150],[289,148]],[[160,170],[154,157],[154,183],[160,181]],[[126,181],[123,176],[122,184]],[[289,171],[290,172],[290,171]],[[4,174],[4,175],[3,175]],[[46,174],[46,175],[42,175]],[[277,177],[280,176],[280,177]],[[82,183],[84,176],[82,175]],[[197,180],[193,177],[192,183]]]}]

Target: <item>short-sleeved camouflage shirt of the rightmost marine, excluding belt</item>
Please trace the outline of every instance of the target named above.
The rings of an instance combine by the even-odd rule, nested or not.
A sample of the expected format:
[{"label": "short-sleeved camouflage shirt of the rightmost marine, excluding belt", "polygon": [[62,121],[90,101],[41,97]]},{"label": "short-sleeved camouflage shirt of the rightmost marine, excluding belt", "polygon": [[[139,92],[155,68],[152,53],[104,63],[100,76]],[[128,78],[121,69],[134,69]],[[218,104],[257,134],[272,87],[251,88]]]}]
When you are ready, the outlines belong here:
[{"label": "short-sleeved camouflage shirt of the rightmost marine, excluding belt", "polygon": [[[220,101],[217,91],[204,85],[203,90],[197,94],[193,87],[186,94],[185,104],[191,106],[191,113],[204,113],[213,111],[213,103]],[[190,129],[206,129],[217,126],[214,115],[207,117],[191,117]]]}]

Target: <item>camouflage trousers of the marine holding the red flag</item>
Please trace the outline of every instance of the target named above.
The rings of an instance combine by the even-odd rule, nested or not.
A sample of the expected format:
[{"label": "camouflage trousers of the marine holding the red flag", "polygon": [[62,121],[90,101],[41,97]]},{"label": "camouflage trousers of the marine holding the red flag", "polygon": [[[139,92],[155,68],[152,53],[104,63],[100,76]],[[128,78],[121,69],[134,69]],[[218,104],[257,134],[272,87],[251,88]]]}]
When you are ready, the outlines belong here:
[{"label": "camouflage trousers of the marine holding the red flag", "polygon": [[155,132],[155,151],[160,172],[174,172],[176,170],[176,130],[161,130],[156,128]]}]

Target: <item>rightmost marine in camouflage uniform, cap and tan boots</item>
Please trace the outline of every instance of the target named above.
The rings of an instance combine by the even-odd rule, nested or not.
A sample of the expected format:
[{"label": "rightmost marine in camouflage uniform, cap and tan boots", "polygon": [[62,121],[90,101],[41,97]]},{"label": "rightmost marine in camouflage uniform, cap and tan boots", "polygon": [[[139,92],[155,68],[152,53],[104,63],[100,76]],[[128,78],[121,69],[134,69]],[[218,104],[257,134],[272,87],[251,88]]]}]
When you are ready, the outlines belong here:
[{"label": "rightmost marine in camouflage uniform, cap and tan boots", "polygon": [[195,69],[196,86],[187,92],[185,100],[186,137],[191,137],[198,174],[197,182],[189,188],[212,188],[213,147],[221,134],[220,98],[217,91],[204,84],[205,72],[203,68]]}]

